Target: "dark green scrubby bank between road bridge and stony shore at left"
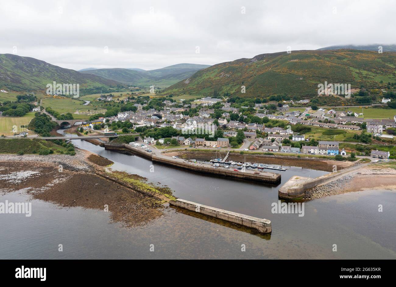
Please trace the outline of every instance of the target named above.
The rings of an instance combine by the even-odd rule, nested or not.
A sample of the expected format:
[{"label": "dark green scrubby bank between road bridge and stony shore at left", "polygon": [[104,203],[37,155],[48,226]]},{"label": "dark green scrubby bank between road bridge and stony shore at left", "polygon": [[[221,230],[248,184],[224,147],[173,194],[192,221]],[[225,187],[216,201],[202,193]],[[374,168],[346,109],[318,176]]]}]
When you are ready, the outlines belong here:
[{"label": "dark green scrubby bank between road bridge and stony shore at left", "polygon": [[0,139],[1,154],[36,154],[43,149],[52,149],[54,153],[67,151],[65,147],[44,139]]}]

